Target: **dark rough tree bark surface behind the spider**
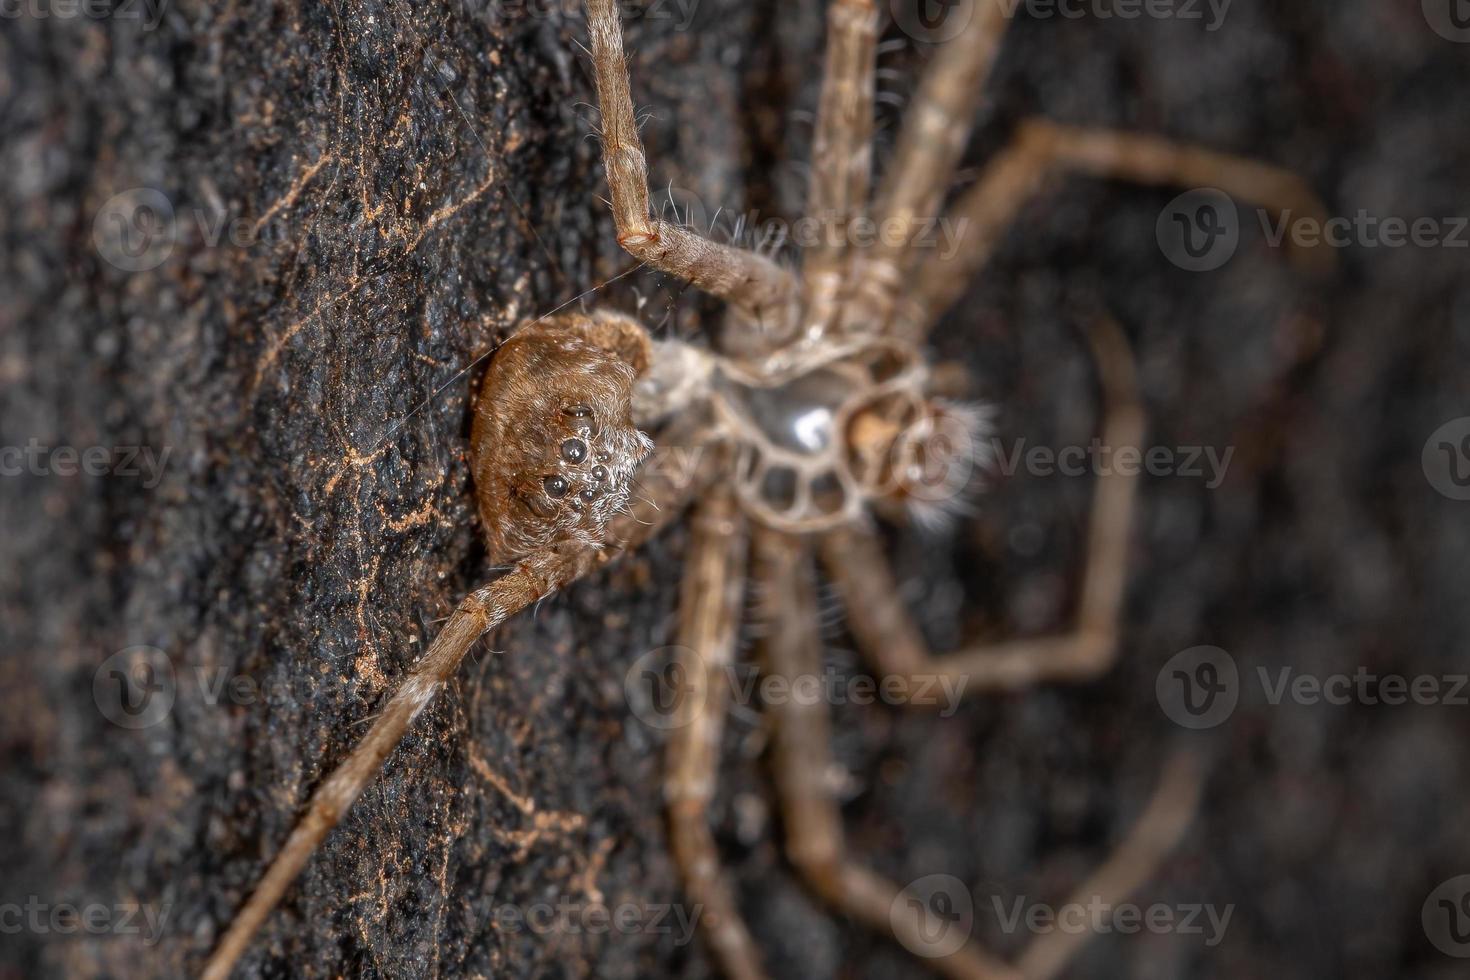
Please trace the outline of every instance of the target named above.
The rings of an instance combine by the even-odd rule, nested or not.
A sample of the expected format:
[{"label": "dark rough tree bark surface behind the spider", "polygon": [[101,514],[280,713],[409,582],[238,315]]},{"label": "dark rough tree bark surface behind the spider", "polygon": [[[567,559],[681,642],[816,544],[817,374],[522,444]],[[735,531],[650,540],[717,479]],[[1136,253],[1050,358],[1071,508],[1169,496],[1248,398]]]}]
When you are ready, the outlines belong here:
[{"label": "dark rough tree bark surface behind the spider", "polygon": [[[0,904],[26,917],[0,921],[0,976],[197,970],[307,793],[490,574],[466,461],[479,375],[462,372],[631,264],[600,201],[566,6],[0,22],[0,447],[38,460],[0,476]],[[1216,31],[1023,16],[973,157],[1044,112],[1279,162],[1335,215],[1470,213],[1454,94],[1470,46],[1411,0],[1286,6],[1238,0]],[[820,4],[628,13],[656,188],[794,215]],[[882,90],[906,97],[925,54],[886,54],[900,72]],[[883,119],[886,144],[898,109]],[[157,204],[137,188],[162,194],[171,225],[119,231]],[[1003,447],[1085,445],[1076,322],[1107,309],[1139,356],[1150,445],[1232,448],[1226,478],[1145,479],[1123,655],[1102,680],[950,718],[838,707],[851,846],[900,882],[958,876],[976,934],[1014,954],[1026,934],[992,896],[1061,902],[1183,741],[1211,758],[1205,802],[1139,902],[1232,905],[1225,937],[1104,936],[1073,976],[1457,976],[1420,908],[1470,873],[1470,710],[1270,704],[1257,671],[1466,671],[1470,504],[1435,491],[1420,453],[1470,413],[1470,251],[1360,242],[1313,282],[1242,209],[1235,259],[1186,273],[1155,244],[1173,197],[1063,182],[938,348],[1000,406]],[[717,311],[648,275],[594,301],[641,303],[686,335]],[[90,458],[106,472],[68,476],[57,447],[103,447]],[[1022,467],[992,483],[956,533],[894,535],[936,645],[1057,629],[1075,602],[1091,480]],[[647,921],[681,901],[663,738],[623,676],[670,642],[682,545],[675,529],[484,644],[243,976],[707,976],[673,918],[542,933],[504,912],[600,902]],[[1155,677],[1201,644],[1233,655],[1241,704],[1191,733]],[[841,621],[829,645],[857,669]],[[109,671],[148,657],[160,689],[137,717],[154,723],[125,727]],[[714,818],[772,973],[917,976],[782,861],[763,743],[759,713],[738,713]],[[56,926],[46,909],[63,904],[109,908],[106,927]],[[37,905],[40,920],[22,908]]]}]

